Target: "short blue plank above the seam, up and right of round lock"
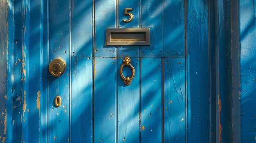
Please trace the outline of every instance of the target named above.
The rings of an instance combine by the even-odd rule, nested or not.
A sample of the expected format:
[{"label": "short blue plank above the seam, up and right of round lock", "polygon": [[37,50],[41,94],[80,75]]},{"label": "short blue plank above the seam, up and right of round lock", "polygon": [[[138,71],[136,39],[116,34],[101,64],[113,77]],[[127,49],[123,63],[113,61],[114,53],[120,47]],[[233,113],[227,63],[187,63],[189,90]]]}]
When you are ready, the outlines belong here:
[{"label": "short blue plank above the seam, up and right of round lock", "polygon": [[92,57],[92,0],[72,0],[72,56]]}]

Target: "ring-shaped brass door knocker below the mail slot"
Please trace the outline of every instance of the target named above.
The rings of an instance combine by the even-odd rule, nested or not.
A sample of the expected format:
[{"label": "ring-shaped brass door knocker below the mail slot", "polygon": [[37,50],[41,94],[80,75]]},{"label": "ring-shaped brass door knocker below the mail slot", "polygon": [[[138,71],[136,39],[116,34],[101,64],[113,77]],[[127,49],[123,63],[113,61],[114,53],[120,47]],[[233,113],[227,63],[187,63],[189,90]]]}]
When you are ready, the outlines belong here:
[{"label": "ring-shaped brass door knocker below the mail slot", "polygon": [[[134,78],[134,75],[135,75],[135,69],[134,69],[134,67],[130,64],[130,62],[132,62],[131,59],[130,59],[130,57],[128,57],[128,56],[125,57],[124,60],[123,60],[123,63],[124,63],[124,64],[122,64],[122,66],[121,66],[121,68],[120,68],[120,75],[121,75],[121,78],[124,80],[124,84],[126,84],[126,85],[130,85],[130,84],[131,84],[132,79]],[[128,66],[128,67],[131,68],[131,70],[132,70],[132,76],[131,76],[131,77],[124,77],[124,74],[123,74],[123,68],[124,68],[124,66]]]}]

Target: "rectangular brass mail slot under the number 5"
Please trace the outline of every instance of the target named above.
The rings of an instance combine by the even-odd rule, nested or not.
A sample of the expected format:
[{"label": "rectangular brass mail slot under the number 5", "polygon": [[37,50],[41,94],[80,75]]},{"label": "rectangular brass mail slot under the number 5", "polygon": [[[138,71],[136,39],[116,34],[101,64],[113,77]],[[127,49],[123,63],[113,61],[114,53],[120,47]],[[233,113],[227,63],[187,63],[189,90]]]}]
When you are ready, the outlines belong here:
[{"label": "rectangular brass mail slot under the number 5", "polygon": [[150,45],[149,28],[108,28],[107,46]]}]

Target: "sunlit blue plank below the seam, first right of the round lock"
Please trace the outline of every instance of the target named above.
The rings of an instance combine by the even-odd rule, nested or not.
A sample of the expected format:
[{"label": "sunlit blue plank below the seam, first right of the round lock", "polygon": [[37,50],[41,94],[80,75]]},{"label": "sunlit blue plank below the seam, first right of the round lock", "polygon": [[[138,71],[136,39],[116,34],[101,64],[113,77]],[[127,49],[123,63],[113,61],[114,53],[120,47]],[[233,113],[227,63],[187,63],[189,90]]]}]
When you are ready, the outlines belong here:
[{"label": "sunlit blue plank below the seam, first right of the round lock", "polygon": [[92,143],[92,58],[72,57],[71,142]]}]

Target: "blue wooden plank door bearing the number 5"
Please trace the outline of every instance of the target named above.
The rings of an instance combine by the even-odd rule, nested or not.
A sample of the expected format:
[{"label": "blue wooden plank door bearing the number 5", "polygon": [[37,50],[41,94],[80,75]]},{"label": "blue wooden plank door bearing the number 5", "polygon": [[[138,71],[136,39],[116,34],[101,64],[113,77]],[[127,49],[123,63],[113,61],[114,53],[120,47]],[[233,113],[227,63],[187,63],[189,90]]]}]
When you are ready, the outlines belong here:
[{"label": "blue wooden plank door bearing the number 5", "polygon": [[[200,11],[207,13],[206,2],[198,3],[191,2],[185,9],[184,0],[50,0],[49,62],[60,57],[67,68],[60,77],[49,74],[48,141],[209,141],[209,113],[201,117],[198,110],[209,108],[209,99],[198,91],[191,103],[185,90],[189,81],[186,73],[190,71],[185,43],[206,40],[203,30],[207,24],[200,23],[205,17],[199,17]],[[129,18],[124,15],[125,8],[132,8],[131,22],[123,21]],[[188,24],[192,26],[186,31],[189,40],[185,40],[184,11],[188,11]],[[106,46],[107,28],[150,28],[150,46]],[[201,35],[198,29],[203,29]],[[195,59],[196,55],[194,52],[191,57]],[[129,86],[119,75],[126,56],[135,68]],[[191,69],[191,79],[206,77],[197,77],[200,72]],[[124,75],[131,75],[130,68],[124,68]],[[194,87],[188,90],[196,90],[197,85]],[[57,95],[62,99],[60,107],[54,105]],[[191,130],[190,126],[198,129]],[[200,135],[194,134],[195,130],[203,137],[197,139]]]}]

